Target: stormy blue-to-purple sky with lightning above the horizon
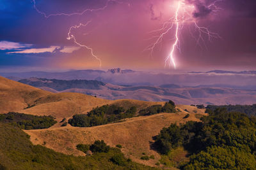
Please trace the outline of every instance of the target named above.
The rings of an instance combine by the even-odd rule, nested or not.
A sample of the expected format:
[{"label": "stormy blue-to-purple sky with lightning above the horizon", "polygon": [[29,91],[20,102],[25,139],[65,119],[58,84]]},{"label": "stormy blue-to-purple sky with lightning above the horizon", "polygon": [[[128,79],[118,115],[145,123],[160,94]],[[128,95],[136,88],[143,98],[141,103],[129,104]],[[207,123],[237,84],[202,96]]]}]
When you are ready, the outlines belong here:
[{"label": "stormy blue-to-purple sky with lightning above the horizon", "polygon": [[255,0],[0,0],[0,70],[255,70],[255,9]]}]

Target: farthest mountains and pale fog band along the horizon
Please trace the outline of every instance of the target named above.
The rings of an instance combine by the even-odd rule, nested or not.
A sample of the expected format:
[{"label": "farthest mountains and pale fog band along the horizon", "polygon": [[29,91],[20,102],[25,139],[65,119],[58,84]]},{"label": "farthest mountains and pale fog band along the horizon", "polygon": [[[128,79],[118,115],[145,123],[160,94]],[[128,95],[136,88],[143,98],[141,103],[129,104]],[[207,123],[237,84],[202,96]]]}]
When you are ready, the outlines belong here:
[{"label": "farthest mountains and pale fog band along the horizon", "polygon": [[0,73],[0,75],[15,81],[36,77],[46,78],[48,80],[97,80],[112,85],[120,85],[122,87],[228,87],[240,90],[256,90],[256,71],[236,72],[214,70],[207,72],[161,73],[115,68],[109,69],[108,71],[86,69],[59,73],[32,71],[25,73]]}]

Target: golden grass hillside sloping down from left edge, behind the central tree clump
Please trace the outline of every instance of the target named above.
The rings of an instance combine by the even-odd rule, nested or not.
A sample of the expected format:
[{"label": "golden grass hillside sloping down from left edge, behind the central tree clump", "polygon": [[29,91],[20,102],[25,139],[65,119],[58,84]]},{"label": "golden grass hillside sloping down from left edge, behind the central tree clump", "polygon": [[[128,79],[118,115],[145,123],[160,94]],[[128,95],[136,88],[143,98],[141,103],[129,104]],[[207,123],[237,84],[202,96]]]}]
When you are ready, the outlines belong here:
[{"label": "golden grass hillside sloping down from left edge, behind the central tree clump", "polygon": [[[63,118],[68,119],[78,113],[87,113],[104,104],[137,106],[139,110],[153,104],[163,103],[129,99],[109,101],[79,93],[51,93],[0,76],[0,113],[17,111],[31,115],[52,115],[60,122]],[[56,126],[60,124],[54,125]]]}]

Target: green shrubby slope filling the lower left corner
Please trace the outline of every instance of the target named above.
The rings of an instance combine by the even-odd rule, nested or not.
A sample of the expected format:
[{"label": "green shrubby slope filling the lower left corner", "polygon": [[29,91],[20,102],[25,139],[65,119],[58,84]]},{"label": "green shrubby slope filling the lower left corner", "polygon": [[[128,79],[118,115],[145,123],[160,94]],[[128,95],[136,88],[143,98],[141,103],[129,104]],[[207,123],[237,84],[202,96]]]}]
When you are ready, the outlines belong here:
[{"label": "green shrubby slope filling the lower left corner", "polygon": [[[119,159],[124,164],[118,165]],[[122,162],[122,161],[121,161]],[[74,157],[32,145],[19,127],[0,123],[0,169],[154,169],[124,159],[118,148]]]}]

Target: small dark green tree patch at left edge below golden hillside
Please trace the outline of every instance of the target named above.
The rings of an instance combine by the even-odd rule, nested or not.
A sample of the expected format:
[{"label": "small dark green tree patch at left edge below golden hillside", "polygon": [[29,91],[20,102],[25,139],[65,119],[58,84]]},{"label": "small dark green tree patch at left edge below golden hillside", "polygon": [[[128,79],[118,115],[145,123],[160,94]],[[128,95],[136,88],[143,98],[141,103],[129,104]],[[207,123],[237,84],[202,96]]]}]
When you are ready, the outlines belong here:
[{"label": "small dark green tree patch at left edge below golden hillside", "polygon": [[0,122],[12,124],[21,129],[46,129],[57,122],[51,116],[34,116],[24,113],[10,112],[0,115]]}]

